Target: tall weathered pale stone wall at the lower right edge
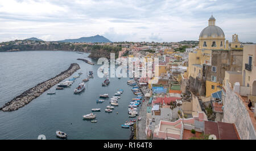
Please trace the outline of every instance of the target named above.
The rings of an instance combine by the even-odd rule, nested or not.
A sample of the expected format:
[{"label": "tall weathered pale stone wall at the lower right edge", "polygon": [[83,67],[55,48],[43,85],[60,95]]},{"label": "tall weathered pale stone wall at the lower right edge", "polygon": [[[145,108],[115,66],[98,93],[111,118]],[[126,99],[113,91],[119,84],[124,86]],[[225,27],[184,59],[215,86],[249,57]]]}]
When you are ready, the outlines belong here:
[{"label": "tall weathered pale stone wall at the lower right edge", "polygon": [[241,97],[233,91],[230,83],[226,83],[226,94],[224,97],[224,118],[222,122],[234,123],[242,140],[255,140],[256,132],[254,122],[250,118],[246,104]]}]

